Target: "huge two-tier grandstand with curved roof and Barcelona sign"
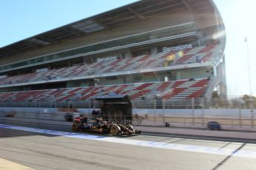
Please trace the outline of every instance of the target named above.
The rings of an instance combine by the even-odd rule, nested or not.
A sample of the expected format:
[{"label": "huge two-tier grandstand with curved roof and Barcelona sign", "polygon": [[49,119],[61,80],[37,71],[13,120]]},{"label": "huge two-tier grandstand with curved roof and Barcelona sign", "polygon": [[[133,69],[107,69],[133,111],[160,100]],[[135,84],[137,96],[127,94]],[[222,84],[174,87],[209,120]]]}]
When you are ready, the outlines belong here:
[{"label": "huge two-tier grandstand with curved roof and Barcelona sign", "polygon": [[0,48],[0,104],[225,97],[224,30],[211,0],[143,0],[85,18]]}]

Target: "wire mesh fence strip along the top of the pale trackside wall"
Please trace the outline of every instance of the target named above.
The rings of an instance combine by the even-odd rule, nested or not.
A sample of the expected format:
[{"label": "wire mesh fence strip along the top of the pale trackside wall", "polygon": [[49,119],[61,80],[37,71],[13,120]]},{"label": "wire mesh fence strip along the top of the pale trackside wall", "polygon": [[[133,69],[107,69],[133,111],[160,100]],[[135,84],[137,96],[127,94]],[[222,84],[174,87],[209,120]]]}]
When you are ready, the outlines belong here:
[{"label": "wire mesh fence strip along the top of the pale trackside wall", "polygon": [[[132,106],[137,109],[255,109],[255,100],[241,99],[180,99],[164,100],[162,98],[132,100]],[[1,101],[0,107],[47,107],[47,108],[99,108],[100,101]]]}]

